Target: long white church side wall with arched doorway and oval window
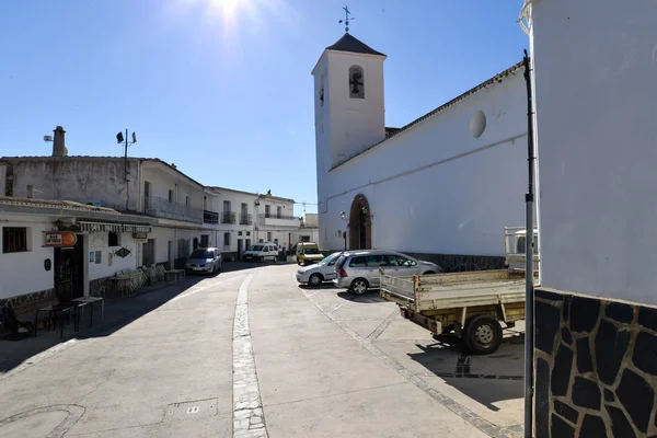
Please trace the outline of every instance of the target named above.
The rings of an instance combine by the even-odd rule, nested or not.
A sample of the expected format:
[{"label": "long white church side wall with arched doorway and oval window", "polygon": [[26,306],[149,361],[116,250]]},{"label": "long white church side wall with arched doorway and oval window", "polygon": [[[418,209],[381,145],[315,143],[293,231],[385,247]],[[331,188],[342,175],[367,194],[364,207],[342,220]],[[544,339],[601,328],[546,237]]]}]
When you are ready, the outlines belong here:
[{"label": "long white church side wall with arched doorway and oval window", "polygon": [[[341,211],[361,194],[374,247],[504,255],[504,227],[525,223],[526,95],[519,69],[320,177],[321,246],[344,247]],[[479,111],[486,128],[475,138]]]}]

